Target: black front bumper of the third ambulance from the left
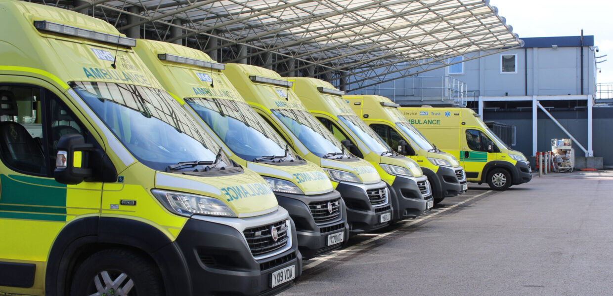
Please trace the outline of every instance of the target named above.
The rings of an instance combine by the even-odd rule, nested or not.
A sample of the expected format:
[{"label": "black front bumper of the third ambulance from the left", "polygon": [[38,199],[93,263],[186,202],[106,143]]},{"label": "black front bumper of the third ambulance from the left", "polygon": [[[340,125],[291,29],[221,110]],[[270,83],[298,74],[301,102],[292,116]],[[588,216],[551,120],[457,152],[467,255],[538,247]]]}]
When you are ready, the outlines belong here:
[{"label": "black front bumper of the third ambulance from the left", "polygon": [[392,204],[389,198],[384,204],[373,207],[367,194],[367,190],[385,187],[386,183],[383,181],[375,184],[338,183],[336,190],[345,201],[347,222],[351,234],[373,231],[390,224],[390,221],[380,222],[382,215],[392,212]]}]

